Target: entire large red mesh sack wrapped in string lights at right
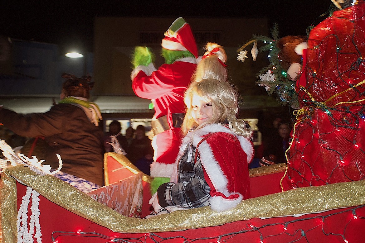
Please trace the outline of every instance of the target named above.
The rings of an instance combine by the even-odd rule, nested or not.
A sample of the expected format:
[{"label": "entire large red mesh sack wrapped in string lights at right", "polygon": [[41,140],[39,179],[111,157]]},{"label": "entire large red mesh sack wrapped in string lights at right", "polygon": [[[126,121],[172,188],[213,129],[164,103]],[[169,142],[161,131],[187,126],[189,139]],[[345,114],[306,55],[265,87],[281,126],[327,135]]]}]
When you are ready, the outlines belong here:
[{"label": "entire large red mesh sack wrapped in string lights at right", "polygon": [[365,178],[364,15],[359,3],[310,32],[300,78],[305,89],[298,87],[302,109],[288,151],[293,187]]}]

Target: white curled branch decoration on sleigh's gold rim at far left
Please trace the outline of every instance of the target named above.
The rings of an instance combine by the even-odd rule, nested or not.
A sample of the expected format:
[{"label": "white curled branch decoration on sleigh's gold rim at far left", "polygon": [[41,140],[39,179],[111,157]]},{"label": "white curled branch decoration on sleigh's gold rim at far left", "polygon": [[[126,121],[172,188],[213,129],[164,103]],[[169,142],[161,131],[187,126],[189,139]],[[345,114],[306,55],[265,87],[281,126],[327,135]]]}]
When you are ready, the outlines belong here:
[{"label": "white curled branch decoration on sleigh's gold rim at far left", "polygon": [[3,156],[6,158],[5,160],[0,159],[0,173],[4,171],[7,167],[7,162],[9,161],[12,166],[17,164],[22,164],[24,166],[28,166],[32,171],[37,173],[38,175],[54,175],[59,172],[62,168],[62,159],[59,154],[57,154],[57,158],[59,161],[59,165],[57,170],[51,172],[50,165],[43,165],[44,160],[39,160],[37,157],[32,156],[32,158],[28,158],[24,154],[18,153],[15,154],[14,150],[4,141],[0,140],[0,149],[3,150]]}]

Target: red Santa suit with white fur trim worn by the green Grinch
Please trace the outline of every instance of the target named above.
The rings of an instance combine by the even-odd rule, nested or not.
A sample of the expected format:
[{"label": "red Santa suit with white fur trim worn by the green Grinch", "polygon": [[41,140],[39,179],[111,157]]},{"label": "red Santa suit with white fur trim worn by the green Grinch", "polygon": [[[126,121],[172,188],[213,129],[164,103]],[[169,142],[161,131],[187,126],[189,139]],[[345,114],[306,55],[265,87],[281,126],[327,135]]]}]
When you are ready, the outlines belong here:
[{"label": "red Santa suit with white fur trim worn by the green Grinch", "polygon": [[185,113],[184,93],[196,68],[195,58],[177,59],[172,64],[162,64],[156,70],[149,66],[138,66],[132,71],[132,89],[141,98],[151,99],[154,118],[167,116],[170,130],[154,136],[154,162],[152,177],[170,177],[174,161],[181,144],[180,128],[173,126],[173,113]]}]

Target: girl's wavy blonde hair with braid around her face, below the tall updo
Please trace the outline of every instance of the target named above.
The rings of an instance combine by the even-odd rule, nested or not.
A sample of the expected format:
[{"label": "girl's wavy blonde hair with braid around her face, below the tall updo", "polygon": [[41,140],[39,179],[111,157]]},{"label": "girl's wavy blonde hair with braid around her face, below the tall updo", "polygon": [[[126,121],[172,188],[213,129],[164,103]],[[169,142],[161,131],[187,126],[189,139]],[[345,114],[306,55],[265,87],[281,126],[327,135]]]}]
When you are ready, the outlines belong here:
[{"label": "girl's wavy blonde hair with braid around her face, below the tall updo", "polygon": [[[192,117],[191,101],[194,95],[212,103],[213,114],[209,121],[198,125]],[[187,113],[181,131],[186,135],[191,129],[199,129],[206,124],[228,123],[229,128],[239,136],[251,137],[251,129],[246,127],[245,121],[237,119],[237,91],[230,83],[218,79],[202,79],[192,82],[185,92],[184,102]]]}]

